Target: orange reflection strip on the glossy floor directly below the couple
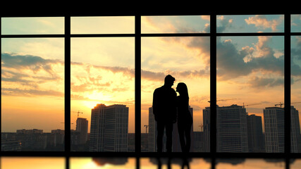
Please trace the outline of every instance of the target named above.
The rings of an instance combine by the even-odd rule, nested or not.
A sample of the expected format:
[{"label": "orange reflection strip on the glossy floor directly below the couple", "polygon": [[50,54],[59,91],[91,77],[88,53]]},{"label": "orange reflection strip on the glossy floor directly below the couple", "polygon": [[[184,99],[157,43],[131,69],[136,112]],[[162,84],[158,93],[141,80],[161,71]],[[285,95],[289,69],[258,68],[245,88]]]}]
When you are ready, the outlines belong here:
[{"label": "orange reflection strip on the glossy floor directly below the couple", "polygon": [[204,168],[209,169],[211,168],[211,162],[209,159],[203,159],[203,158],[140,158],[140,168],[141,169],[156,169],[159,168],[159,165],[161,164],[161,168],[168,168],[168,161],[170,162],[171,168],[191,168],[191,169],[197,169],[197,168]]}]

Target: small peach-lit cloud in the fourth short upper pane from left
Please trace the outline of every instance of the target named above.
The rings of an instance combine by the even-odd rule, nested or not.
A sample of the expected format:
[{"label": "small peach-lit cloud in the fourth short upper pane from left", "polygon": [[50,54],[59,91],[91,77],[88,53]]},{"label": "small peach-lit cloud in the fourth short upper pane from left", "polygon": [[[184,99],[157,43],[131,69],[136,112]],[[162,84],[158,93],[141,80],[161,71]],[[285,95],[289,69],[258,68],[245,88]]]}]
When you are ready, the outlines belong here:
[{"label": "small peach-lit cloud in the fourth short upper pane from left", "polygon": [[265,15],[255,15],[245,19],[245,23],[262,27],[263,29],[271,28],[273,32],[276,32],[277,26],[283,23],[283,17],[280,17],[278,20],[268,20]]}]

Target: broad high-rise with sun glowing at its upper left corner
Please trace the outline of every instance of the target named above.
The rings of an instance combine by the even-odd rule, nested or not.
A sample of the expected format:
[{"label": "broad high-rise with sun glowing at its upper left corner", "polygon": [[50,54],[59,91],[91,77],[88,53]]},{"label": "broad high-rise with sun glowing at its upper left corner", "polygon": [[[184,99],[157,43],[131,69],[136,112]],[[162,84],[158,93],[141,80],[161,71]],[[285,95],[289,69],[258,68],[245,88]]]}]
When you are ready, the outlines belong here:
[{"label": "broad high-rise with sun glowing at its upper left corner", "polygon": [[92,108],[90,151],[128,151],[128,107],[97,104]]}]

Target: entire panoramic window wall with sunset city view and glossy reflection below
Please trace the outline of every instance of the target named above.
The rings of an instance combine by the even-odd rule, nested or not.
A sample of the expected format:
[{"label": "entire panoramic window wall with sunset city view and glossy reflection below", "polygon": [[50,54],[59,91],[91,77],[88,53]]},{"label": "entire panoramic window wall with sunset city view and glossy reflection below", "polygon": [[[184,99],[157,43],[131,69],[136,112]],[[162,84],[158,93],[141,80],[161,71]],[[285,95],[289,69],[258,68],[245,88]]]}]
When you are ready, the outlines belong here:
[{"label": "entire panoramic window wall with sunset city view and glossy reflection below", "polygon": [[[295,14],[1,16],[1,168],[300,168],[300,25]],[[155,93],[165,82],[171,120],[154,111],[170,104]]]}]

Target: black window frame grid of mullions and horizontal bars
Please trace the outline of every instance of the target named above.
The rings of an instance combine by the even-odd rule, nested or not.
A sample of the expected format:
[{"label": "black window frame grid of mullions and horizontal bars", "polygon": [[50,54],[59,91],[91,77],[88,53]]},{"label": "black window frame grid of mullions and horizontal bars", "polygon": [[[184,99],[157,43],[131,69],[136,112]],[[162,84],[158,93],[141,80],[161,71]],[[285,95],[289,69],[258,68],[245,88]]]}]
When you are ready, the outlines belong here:
[{"label": "black window frame grid of mullions and horizontal bars", "polygon": [[[252,15],[252,14],[280,14],[284,15],[284,32],[263,32],[263,33],[222,33],[216,32],[217,15]],[[285,169],[290,168],[290,160],[301,158],[300,153],[290,153],[290,38],[292,36],[301,36],[301,32],[290,31],[290,16],[293,12],[271,13],[266,12],[227,12],[227,11],[205,11],[205,12],[121,12],[121,13],[59,13],[59,14],[30,14],[23,15],[17,13],[1,14],[1,18],[6,17],[63,17],[64,34],[63,35],[0,35],[1,38],[46,38],[60,37],[64,38],[65,51],[65,151],[1,151],[1,157],[62,157],[66,159],[66,169],[70,168],[70,158],[73,157],[128,157],[136,159],[136,168],[140,168],[140,158],[209,158],[211,159],[211,168],[215,169],[216,159],[219,158],[278,158],[285,161]],[[71,35],[70,18],[76,16],[134,16],[135,33],[134,34],[93,34],[93,35]],[[142,34],[141,16],[145,15],[210,15],[210,32],[209,33],[173,33],[173,34]],[[1,32],[1,23],[0,23]],[[210,140],[216,140],[216,38],[226,36],[283,36],[284,37],[284,101],[285,101],[285,152],[284,153],[219,153],[216,152],[216,142],[211,142],[210,152],[206,153],[151,153],[141,152],[141,38],[142,37],[209,37],[210,38],[210,108],[211,108],[211,131]],[[72,37],[134,37],[135,38],[135,152],[76,152],[70,151],[70,39]],[[69,63],[69,64],[68,64]],[[0,126],[1,129],[1,126]]]}]

